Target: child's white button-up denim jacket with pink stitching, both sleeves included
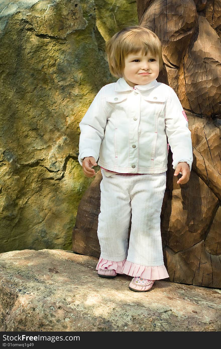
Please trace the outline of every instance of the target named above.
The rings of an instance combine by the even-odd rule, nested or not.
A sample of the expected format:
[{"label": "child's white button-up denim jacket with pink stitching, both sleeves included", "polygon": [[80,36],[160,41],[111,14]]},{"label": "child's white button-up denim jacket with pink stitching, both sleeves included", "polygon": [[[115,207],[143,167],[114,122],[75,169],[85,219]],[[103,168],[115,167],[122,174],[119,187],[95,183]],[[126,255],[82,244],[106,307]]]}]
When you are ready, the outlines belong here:
[{"label": "child's white button-up denim jacket with pink stitching, both sleeves included", "polygon": [[[80,124],[79,163],[93,156],[119,173],[167,171],[168,143],[173,168],[193,161],[191,132],[183,107],[168,85],[156,80],[129,86],[121,77],[95,96]],[[168,137],[168,143],[167,143]]]}]

